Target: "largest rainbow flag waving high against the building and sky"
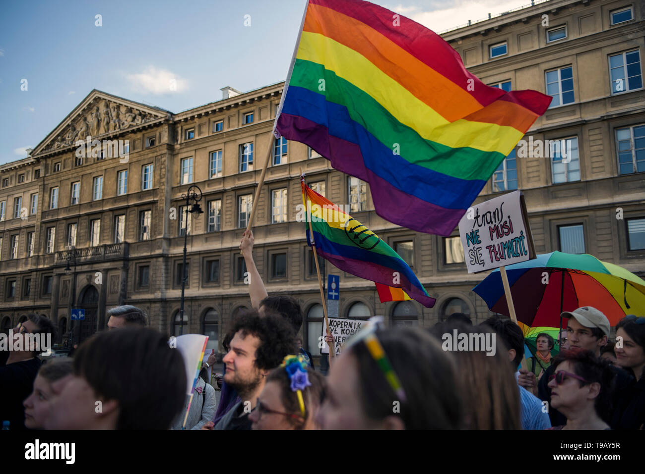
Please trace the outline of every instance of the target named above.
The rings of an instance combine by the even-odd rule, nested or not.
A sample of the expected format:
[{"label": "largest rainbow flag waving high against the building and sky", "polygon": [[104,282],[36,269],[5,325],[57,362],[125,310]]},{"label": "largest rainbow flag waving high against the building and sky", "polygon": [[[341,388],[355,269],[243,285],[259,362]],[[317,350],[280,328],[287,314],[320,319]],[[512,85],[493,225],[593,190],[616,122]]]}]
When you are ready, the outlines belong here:
[{"label": "largest rainbow flag waving high against the building and sky", "polygon": [[382,218],[447,236],[551,97],[466,71],[439,35],[362,0],[309,0],[275,119],[370,183]]}]

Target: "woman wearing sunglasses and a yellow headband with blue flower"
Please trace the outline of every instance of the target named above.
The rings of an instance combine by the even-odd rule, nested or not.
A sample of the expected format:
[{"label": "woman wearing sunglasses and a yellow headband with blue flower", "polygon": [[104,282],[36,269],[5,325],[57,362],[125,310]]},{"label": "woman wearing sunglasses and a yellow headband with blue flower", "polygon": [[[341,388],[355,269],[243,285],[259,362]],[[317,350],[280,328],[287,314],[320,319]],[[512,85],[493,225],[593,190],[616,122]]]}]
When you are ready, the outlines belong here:
[{"label": "woman wearing sunglasses and a yellow headband with blue flower", "polygon": [[303,356],[287,355],[266,377],[257,406],[249,415],[253,430],[317,430],[325,377],[306,365]]}]

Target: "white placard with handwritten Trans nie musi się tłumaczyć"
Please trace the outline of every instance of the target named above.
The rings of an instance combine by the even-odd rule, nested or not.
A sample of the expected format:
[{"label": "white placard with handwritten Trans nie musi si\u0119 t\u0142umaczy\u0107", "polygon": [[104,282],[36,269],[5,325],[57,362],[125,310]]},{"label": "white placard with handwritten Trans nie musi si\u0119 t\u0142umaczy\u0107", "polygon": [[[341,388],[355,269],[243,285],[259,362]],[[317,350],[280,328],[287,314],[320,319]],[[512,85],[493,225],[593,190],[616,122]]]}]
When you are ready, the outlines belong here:
[{"label": "white placard with handwritten Trans nie musi si\u0119 t\u0142umaczy\u0107", "polygon": [[468,273],[535,258],[521,191],[469,207],[459,222]]}]

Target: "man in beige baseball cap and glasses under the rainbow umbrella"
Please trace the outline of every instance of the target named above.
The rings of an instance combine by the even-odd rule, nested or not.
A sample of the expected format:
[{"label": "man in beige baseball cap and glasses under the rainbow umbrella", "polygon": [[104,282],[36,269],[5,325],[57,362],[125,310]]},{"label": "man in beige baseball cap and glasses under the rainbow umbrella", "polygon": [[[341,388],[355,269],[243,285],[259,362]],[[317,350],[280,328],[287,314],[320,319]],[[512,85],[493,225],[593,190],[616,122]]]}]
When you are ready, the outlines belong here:
[{"label": "man in beige baseball cap and glasses under the rainbow umbrella", "polygon": [[[567,318],[567,346],[571,349],[590,350],[594,355],[600,357],[600,348],[607,345],[610,335],[610,323],[607,316],[591,306],[584,306],[573,311],[565,311],[562,318]],[[617,366],[611,366],[616,375],[615,390],[613,392],[612,404],[617,406],[620,392],[626,388],[631,381],[629,374]],[[538,396],[546,401],[549,406],[549,417],[553,426],[564,426],[566,417],[559,410],[551,405],[551,386],[549,378],[555,373],[555,366],[551,365],[544,371],[541,379],[537,381],[531,372],[526,374],[527,383],[537,383]],[[529,381],[530,380],[530,381]],[[612,426],[612,428],[614,428]]]}]

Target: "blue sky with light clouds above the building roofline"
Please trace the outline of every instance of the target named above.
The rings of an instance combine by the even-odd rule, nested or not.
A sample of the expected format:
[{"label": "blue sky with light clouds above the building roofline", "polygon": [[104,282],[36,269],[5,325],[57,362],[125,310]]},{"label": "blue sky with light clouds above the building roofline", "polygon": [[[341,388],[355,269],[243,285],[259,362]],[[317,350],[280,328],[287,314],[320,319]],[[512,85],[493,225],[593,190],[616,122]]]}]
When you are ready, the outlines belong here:
[{"label": "blue sky with light clouds above the building roofline", "polygon": [[[375,0],[435,31],[528,0]],[[92,89],[172,112],[284,81],[306,0],[22,1],[0,15],[0,164]],[[96,26],[101,15],[102,26]],[[244,26],[250,15],[250,26]],[[246,22],[248,23],[248,21]],[[27,80],[27,90],[21,81]],[[177,90],[170,91],[170,79]]]}]

